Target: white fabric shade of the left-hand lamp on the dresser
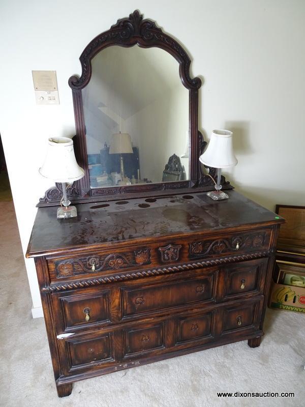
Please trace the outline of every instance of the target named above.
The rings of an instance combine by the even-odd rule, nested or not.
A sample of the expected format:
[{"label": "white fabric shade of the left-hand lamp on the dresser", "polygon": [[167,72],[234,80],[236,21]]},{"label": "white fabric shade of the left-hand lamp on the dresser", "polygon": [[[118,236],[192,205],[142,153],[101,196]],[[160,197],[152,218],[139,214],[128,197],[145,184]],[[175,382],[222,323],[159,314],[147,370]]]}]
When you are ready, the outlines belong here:
[{"label": "white fabric shade of the left-hand lamp on the dresser", "polygon": [[54,182],[80,180],[85,172],[76,162],[73,140],[68,137],[49,138],[47,156],[39,172]]}]

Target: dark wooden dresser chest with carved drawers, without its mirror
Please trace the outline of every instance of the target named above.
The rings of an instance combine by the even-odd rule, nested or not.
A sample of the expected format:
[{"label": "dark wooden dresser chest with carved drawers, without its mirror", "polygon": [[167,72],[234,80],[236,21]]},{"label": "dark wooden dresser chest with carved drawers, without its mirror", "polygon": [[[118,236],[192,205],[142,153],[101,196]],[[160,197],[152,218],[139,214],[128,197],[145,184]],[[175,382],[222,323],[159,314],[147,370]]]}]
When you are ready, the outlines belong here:
[{"label": "dark wooden dresser chest with carved drawers, without its mirror", "polygon": [[59,396],[88,377],[259,346],[283,219],[235,191],[39,208],[34,257]]}]

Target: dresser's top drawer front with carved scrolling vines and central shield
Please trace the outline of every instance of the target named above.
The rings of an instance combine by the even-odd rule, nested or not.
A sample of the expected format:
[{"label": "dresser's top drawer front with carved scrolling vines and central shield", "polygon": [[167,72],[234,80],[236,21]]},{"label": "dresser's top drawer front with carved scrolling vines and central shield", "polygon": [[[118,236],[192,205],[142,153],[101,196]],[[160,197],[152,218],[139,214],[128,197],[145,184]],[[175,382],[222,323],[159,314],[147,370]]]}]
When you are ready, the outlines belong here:
[{"label": "dresser's top drawer front with carved scrolling vines and central shield", "polygon": [[94,279],[118,281],[125,278],[122,275],[130,273],[141,273],[144,276],[146,270],[267,251],[270,236],[271,229],[242,231],[239,234],[223,230],[215,237],[204,239],[197,236],[162,243],[157,241],[146,246],[113,248],[112,251],[108,248],[89,253],[74,252],[73,256],[47,258],[49,280],[51,284],[60,285],[86,279],[90,284]]}]

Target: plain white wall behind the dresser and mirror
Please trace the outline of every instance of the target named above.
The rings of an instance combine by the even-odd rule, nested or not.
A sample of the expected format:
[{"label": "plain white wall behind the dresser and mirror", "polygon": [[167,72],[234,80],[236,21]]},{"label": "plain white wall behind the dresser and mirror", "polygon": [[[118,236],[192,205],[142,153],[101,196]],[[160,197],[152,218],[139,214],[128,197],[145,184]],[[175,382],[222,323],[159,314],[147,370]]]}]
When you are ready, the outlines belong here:
[{"label": "plain white wall behind the dresser and mirror", "polygon": [[[0,133],[24,252],[50,186],[38,175],[46,138],[75,132],[68,78],[87,43],[138,7],[189,49],[203,76],[200,127],[233,129],[236,189],[270,209],[304,205],[303,0],[2,0]],[[60,105],[36,106],[32,70],[56,70]],[[39,310],[32,259],[26,270]]]}]

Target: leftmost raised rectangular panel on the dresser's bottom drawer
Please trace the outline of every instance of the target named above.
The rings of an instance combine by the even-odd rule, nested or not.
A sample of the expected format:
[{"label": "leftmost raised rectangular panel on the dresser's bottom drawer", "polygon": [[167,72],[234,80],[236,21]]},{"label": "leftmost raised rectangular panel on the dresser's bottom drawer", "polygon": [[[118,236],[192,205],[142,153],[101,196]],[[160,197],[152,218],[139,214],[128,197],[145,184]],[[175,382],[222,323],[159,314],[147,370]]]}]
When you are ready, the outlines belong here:
[{"label": "leftmost raised rectangular panel on the dresser's bottom drawer", "polygon": [[91,335],[81,338],[72,338],[66,341],[66,354],[68,366],[63,363],[69,372],[75,369],[87,368],[93,365],[114,362],[113,333]]}]

